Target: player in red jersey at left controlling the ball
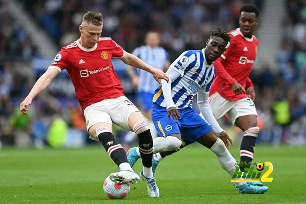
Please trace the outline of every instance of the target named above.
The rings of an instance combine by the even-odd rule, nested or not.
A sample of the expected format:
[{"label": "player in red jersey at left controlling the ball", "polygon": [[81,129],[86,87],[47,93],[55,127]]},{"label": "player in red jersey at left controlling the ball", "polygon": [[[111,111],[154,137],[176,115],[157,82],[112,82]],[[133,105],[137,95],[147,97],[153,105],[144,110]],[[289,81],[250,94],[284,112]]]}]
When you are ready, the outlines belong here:
[{"label": "player in red jersey at left controlling the ball", "polygon": [[141,178],[147,183],[150,197],[159,197],[159,190],[152,173],[153,141],[147,119],[123,94],[123,88],[111,63],[117,57],[124,63],[153,74],[155,80],[165,79],[166,74],[146,64],[138,57],[124,51],[110,37],[100,37],[102,14],[87,12],[79,26],[81,37],[62,47],[47,71],[37,80],[28,96],[20,104],[22,114],[27,114],[33,98],[41,93],[62,70],[66,69],[75,87],[77,98],[84,111],[90,137],[100,140],[109,157],[120,171],[110,174],[117,183],[137,182],[123,147],[112,134],[112,123],[134,131],[139,139],[143,171]]}]

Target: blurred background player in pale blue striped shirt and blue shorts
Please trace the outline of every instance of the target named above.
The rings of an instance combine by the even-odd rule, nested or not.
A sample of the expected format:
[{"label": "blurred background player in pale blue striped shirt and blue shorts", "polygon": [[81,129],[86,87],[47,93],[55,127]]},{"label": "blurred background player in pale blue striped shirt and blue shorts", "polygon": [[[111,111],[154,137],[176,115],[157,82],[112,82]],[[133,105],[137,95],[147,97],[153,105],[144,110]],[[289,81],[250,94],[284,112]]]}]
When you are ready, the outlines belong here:
[{"label": "blurred background player in pale blue striped shirt and blue shorts", "polygon": [[[157,69],[167,71],[170,65],[168,61],[168,52],[163,47],[160,47],[159,43],[159,34],[157,32],[150,31],[145,37],[146,45],[137,47],[132,54]],[[133,85],[137,88],[137,99],[142,107],[142,110],[144,111],[145,117],[149,120],[148,124],[154,138],[154,136],[157,136],[157,132],[151,120],[151,107],[154,91],[159,84],[152,77],[152,74],[138,69],[137,72],[135,71],[136,70],[134,67],[127,66],[128,75],[131,77]],[[130,132],[125,135],[124,140],[126,143],[130,143],[135,136],[136,135],[134,132]]]}]

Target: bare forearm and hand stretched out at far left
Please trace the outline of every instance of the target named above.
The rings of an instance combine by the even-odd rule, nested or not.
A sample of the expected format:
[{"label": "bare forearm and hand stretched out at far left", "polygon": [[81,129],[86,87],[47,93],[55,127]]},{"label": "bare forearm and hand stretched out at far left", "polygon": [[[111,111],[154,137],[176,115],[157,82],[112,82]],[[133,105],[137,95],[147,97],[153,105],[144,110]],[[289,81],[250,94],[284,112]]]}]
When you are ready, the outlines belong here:
[{"label": "bare forearm and hand stretched out at far left", "polygon": [[33,98],[45,90],[59,73],[57,69],[48,68],[47,71],[39,77],[30,93],[20,103],[20,111],[23,115],[27,114],[28,109],[26,107],[31,105]]}]

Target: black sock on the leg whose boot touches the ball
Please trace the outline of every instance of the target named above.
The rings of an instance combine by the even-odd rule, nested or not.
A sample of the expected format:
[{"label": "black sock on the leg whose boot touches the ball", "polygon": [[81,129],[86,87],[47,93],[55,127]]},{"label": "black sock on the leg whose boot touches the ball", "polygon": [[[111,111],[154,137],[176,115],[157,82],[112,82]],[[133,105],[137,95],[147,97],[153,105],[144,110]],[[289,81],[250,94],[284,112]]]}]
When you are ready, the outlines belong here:
[{"label": "black sock on the leg whose boot touches the ball", "polygon": [[118,167],[123,162],[128,163],[123,147],[117,143],[112,133],[100,133],[98,138],[104,146],[108,156],[114,161],[114,163],[116,163]]}]

